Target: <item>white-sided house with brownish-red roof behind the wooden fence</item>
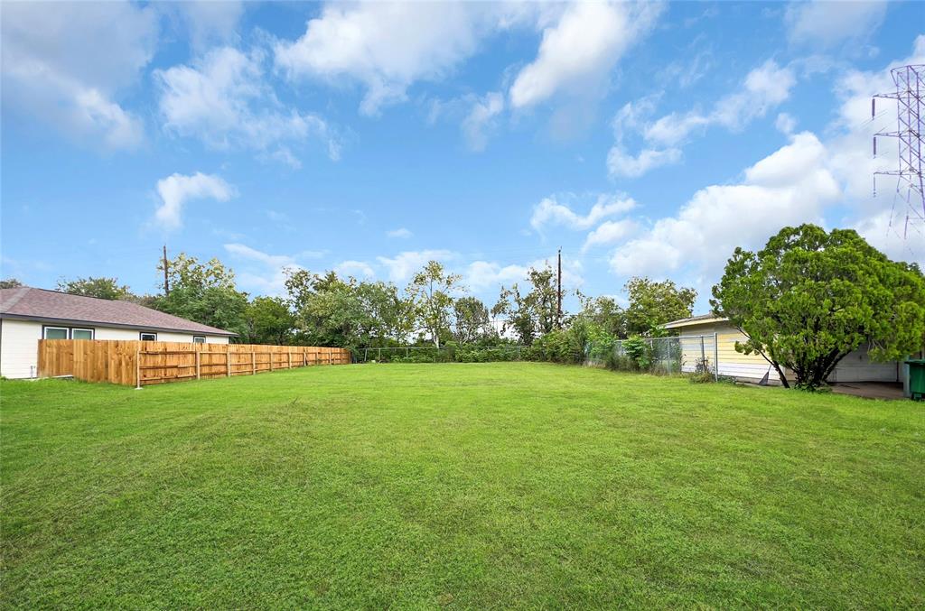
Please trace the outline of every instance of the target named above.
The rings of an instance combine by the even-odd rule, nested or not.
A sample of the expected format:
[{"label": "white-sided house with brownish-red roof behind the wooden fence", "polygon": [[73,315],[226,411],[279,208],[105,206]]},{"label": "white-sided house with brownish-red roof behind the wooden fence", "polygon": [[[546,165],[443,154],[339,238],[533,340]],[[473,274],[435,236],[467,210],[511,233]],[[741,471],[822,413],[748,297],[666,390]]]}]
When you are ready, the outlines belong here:
[{"label": "white-sided house with brownish-red roof behind the wooden fence", "polygon": [[228,344],[230,331],[130,303],[42,288],[0,289],[0,375],[38,374],[40,339],[138,339]]}]

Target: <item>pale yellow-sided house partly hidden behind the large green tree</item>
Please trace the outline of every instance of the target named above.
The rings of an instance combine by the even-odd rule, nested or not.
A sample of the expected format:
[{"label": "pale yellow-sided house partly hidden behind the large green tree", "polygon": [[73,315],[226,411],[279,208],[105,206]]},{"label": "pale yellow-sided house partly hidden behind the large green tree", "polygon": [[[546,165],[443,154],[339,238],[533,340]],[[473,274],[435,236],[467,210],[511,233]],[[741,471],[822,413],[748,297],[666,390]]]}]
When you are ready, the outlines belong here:
[{"label": "pale yellow-sided house partly hidden behind the large green tree", "polygon": [[[728,319],[715,314],[702,314],[663,325],[677,331],[681,342],[681,371],[693,373],[698,363],[706,361],[709,371],[735,378],[742,382],[759,383],[767,376],[769,384],[780,384],[780,376],[759,354],[742,354],[735,350],[735,342],[745,342],[746,336]],[[718,363],[718,369],[714,369]],[[787,374],[785,371],[784,374]],[[899,361],[876,362],[870,360],[868,347],[862,346],[841,360],[831,376],[832,384],[878,382],[906,385],[907,365]],[[790,376],[787,375],[788,380]]]}]

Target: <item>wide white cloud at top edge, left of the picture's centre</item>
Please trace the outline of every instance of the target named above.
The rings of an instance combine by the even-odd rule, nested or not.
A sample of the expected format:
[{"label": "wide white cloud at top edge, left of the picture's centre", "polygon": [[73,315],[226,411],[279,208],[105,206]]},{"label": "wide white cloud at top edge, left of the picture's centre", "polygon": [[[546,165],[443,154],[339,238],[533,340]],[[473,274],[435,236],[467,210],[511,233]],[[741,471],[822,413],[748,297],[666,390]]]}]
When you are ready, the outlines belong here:
[{"label": "wide white cloud at top edge, left of the picture's centre", "polygon": [[362,83],[361,111],[375,115],[404,100],[414,81],[445,76],[475,53],[481,37],[523,10],[459,2],[328,4],[301,38],[277,43],[276,63],[290,77]]}]

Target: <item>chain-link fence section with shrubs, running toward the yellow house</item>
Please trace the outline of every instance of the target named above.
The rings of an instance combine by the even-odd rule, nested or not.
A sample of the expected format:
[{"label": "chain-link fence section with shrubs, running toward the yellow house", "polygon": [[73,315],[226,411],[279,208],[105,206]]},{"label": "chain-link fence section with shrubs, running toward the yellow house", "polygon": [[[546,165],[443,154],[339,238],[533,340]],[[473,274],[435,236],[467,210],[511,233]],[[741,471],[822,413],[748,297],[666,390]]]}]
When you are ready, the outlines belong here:
[{"label": "chain-link fence section with shrubs, running toward the yellow house", "polygon": [[590,345],[586,363],[625,372],[695,373],[719,376],[715,335],[632,337],[609,345]]}]

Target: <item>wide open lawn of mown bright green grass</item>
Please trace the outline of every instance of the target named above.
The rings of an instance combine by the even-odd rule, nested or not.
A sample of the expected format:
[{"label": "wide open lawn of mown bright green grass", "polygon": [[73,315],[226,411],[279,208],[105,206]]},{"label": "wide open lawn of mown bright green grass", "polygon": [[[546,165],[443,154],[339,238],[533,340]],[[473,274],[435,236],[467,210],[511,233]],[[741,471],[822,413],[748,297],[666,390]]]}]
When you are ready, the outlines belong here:
[{"label": "wide open lawn of mown bright green grass", "polygon": [[536,363],[4,382],[0,606],[925,605],[925,406]]}]

